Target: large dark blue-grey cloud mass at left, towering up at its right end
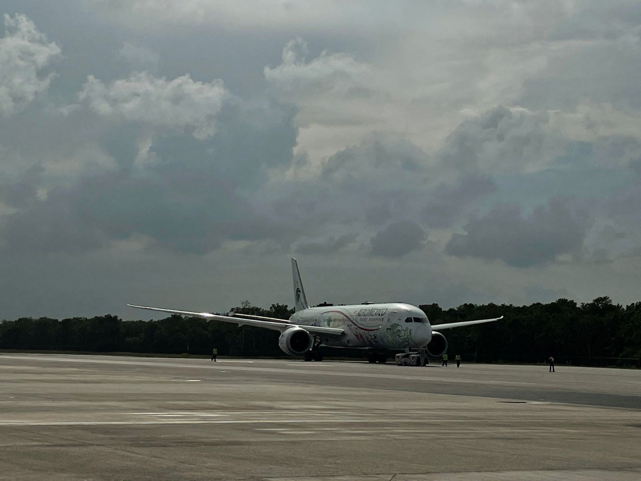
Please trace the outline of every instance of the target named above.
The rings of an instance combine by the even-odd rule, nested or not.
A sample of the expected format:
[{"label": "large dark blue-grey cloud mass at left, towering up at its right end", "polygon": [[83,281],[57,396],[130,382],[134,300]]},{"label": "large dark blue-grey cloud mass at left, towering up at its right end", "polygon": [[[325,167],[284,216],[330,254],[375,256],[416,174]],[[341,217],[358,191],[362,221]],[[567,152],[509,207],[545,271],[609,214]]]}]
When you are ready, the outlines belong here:
[{"label": "large dark blue-grey cloud mass at left, towering up at its right end", "polygon": [[[4,197],[24,208],[0,223],[4,251],[76,252],[133,235],[187,253],[206,253],[226,240],[281,240],[288,228],[265,217],[251,192],[269,168],[292,162],[295,112],[273,102],[228,105],[206,139],[161,126],[142,165],[139,139],[108,128],[102,145],[117,170],[83,176],[41,200],[34,199],[33,183],[5,186]],[[131,132],[143,126],[131,122]]]}]

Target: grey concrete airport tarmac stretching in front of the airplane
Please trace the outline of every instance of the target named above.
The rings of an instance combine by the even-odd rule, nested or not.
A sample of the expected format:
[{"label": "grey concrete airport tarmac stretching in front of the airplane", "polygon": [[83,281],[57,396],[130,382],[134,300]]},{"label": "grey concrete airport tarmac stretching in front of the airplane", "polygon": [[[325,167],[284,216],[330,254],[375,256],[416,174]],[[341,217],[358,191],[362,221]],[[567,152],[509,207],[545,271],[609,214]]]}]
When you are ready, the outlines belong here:
[{"label": "grey concrete airport tarmac stretching in front of the airplane", "polygon": [[641,479],[641,371],[0,354],[0,480]]}]

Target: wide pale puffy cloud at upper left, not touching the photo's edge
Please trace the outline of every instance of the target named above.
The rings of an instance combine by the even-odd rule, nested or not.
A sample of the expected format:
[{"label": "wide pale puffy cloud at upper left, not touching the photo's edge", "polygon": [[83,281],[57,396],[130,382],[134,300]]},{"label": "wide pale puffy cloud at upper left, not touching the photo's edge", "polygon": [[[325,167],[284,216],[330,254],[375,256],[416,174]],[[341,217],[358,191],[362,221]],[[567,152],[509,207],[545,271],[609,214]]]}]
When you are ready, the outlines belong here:
[{"label": "wide pale puffy cloud at upper left, not touching the photo's edge", "polygon": [[90,75],[78,98],[116,122],[144,122],[206,139],[215,132],[222,106],[232,97],[222,80],[204,83],[189,75],[167,80],[135,72],[109,85]]}]

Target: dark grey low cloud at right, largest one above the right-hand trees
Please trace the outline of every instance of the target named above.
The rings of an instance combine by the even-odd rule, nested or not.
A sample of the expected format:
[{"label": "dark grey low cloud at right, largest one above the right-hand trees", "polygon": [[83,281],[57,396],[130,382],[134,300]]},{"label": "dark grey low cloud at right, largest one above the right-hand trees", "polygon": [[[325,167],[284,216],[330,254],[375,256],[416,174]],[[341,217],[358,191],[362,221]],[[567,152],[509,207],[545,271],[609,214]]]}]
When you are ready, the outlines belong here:
[{"label": "dark grey low cloud at right, largest one above the right-hand trees", "polygon": [[470,219],[466,233],[455,233],[445,251],[457,257],[500,259],[510,266],[531,267],[576,253],[589,227],[585,212],[561,199],[535,208],[526,217],[519,207],[494,208]]}]

